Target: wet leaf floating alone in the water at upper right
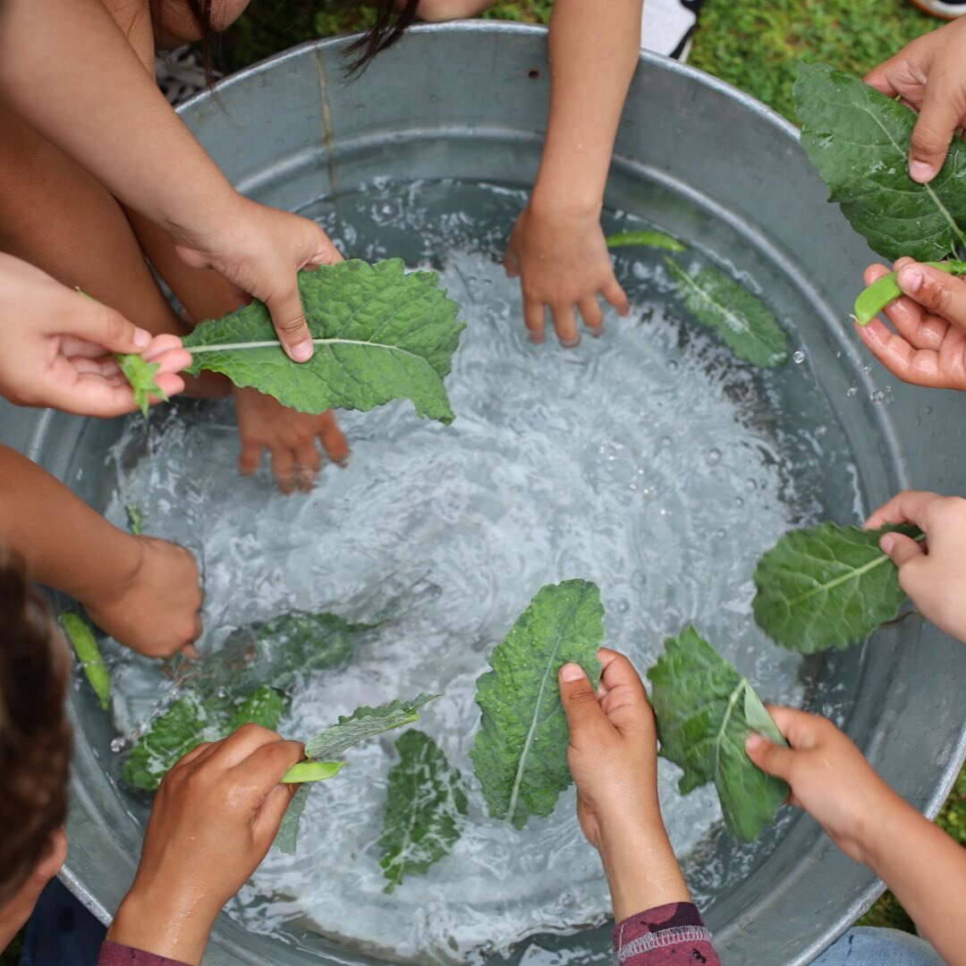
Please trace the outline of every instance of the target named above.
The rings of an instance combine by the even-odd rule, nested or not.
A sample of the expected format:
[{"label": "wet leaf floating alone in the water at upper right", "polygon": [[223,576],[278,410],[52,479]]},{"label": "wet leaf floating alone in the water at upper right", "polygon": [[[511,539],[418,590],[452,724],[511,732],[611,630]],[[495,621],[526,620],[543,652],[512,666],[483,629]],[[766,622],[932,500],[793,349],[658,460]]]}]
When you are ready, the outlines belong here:
[{"label": "wet leaf floating alone in the water at upper right", "polygon": [[698,322],[715,329],[746,362],[777,366],[788,361],[788,339],[771,311],[720,271],[688,272],[666,258],[678,295]]}]

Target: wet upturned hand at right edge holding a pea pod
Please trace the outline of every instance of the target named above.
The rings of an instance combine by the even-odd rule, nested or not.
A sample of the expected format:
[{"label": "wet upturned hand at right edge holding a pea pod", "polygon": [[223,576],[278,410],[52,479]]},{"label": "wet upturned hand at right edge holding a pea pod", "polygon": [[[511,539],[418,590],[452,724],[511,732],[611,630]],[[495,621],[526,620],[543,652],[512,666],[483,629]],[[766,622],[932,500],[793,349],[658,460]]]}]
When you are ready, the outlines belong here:
[{"label": "wet upturned hand at right edge holding a pea pod", "polygon": [[[895,269],[905,293],[885,310],[895,333],[873,319],[856,326],[859,337],[903,383],[966,391],[966,280],[908,258],[900,258]],[[888,272],[869,266],[866,284]]]}]

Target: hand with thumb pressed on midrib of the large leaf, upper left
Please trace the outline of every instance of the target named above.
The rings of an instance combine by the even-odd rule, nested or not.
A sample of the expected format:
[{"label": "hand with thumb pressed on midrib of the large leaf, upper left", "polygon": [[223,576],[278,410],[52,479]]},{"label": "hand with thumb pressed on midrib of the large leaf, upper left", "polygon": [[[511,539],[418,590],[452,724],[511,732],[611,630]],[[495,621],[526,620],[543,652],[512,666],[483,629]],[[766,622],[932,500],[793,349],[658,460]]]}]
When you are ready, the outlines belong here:
[{"label": "hand with thumb pressed on midrib of the large leaf, upper left", "polygon": [[296,362],[312,357],[312,335],[298,294],[299,269],[333,265],[342,256],[308,218],[237,196],[234,216],[206,233],[181,230],[179,257],[195,269],[214,269],[241,292],[268,306],[285,352]]}]

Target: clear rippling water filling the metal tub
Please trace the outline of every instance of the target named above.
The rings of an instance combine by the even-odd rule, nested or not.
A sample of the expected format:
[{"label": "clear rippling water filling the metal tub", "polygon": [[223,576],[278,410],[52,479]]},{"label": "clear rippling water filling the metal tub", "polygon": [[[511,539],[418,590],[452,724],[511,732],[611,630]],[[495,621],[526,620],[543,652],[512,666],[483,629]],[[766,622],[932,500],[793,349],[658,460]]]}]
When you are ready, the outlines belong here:
[{"label": "clear rippling water filling the metal tub", "polygon": [[[384,895],[376,842],[395,760],[388,734],[314,789],[298,854],[272,850],[229,907],[253,930],[297,921],[392,962],[481,962],[531,934],[609,915],[573,789],[518,832],[487,816],[473,780],[474,683],[531,596],[545,583],[592,580],[608,645],[641,671],[694,622],[763,696],[800,703],[801,658],[769,643],[750,616],[754,563],[789,526],[828,513],[829,479],[855,475],[809,366],[736,362],[680,306],[660,252],[621,256],[634,307],[626,319],[609,313],[601,338],[575,350],[552,334],[530,344],[519,283],[497,258],[521,197],[485,185],[456,196],[476,214],[445,210],[452,187],[373,185],[327,223],[362,257],[391,254],[393,233],[423,240],[420,254],[468,323],[446,381],[452,426],[417,419],[408,402],[340,413],[351,463],[326,469],[307,496],[281,496],[268,469],[238,475],[225,403],[156,412],[149,428],[131,419],[109,461],[109,517],[123,525],[136,503],[146,532],[202,561],[203,650],[293,609],[362,621],[394,613],[344,667],[298,678],[285,735],[306,739],[359,704],[442,695],[418,726],[469,783],[469,818],[448,857]],[[684,258],[709,261],[696,249]],[[858,505],[853,484],[842,490]],[[162,679],[127,652],[116,660],[115,716],[128,733]],[[668,831],[688,856],[721,812],[711,787],[678,795],[678,774],[661,762]]]}]

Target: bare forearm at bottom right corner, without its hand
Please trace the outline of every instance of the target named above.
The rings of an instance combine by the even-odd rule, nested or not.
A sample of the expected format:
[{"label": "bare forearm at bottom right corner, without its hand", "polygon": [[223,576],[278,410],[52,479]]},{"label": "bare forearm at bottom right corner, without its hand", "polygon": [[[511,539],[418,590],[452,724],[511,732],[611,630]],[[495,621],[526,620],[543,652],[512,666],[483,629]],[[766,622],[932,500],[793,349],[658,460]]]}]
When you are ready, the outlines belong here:
[{"label": "bare forearm at bottom right corner, without its hand", "polygon": [[966,964],[966,849],[895,795],[867,833],[867,864],[950,966]]}]

